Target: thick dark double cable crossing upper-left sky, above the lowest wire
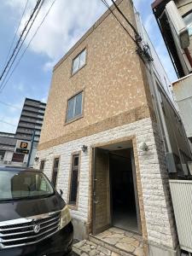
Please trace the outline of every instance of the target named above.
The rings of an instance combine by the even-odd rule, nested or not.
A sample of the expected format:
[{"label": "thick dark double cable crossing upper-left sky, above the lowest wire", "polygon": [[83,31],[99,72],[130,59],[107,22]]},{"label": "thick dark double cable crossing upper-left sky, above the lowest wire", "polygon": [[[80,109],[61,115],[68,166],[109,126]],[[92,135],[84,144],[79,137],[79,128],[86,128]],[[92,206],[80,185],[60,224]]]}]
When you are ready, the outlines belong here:
[{"label": "thick dark double cable crossing upper-left sky, above the lowest wire", "polygon": [[33,15],[36,13],[36,10],[38,9],[38,6],[39,6],[40,3],[41,3],[41,0],[38,0],[37,3],[36,3],[36,5],[35,5],[35,8],[32,10],[32,14],[30,15],[29,20],[27,20],[27,22],[26,22],[26,26],[24,27],[23,31],[20,33],[20,38],[19,38],[19,40],[18,40],[18,42],[17,42],[17,44],[16,44],[16,46],[15,46],[15,49],[13,50],[12,55],[9,57],[9,61],[7,62],[6,66],[5,66],[4,69],[3,69],[3,73],[2,73],[1,76],[0,76],[0,80],[3,78],[4,73],[6,72],[7,68],[9,67],[9,63],[10,63],[10,61],[13,59],[13,57],[14,57],[14,55],[15,55],[15,51],[16,51],[17,48],[19,47],[20,41],[21,41],[21,39],[22,39],[24,33],[26,32],[26,28],[27,28],[27,26],[29,25],[30,21],[32,20]]}]

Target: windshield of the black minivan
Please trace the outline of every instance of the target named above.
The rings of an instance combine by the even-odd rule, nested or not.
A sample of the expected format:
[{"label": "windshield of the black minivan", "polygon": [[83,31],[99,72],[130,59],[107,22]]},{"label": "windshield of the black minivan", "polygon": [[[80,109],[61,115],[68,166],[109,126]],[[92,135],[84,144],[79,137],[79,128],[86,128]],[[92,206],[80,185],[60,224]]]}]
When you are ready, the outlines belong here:
[{"label": "windshield of the black minivan", "polygon": [[54,189],[42,172],[0,171],[0,201],[43,198]]}]

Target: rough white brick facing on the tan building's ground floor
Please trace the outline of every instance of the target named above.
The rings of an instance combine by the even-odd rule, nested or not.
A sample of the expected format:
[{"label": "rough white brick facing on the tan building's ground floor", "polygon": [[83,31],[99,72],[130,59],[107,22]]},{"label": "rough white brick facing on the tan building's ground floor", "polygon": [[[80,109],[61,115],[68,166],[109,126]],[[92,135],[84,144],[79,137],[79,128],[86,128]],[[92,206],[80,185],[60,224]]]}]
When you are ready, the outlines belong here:
[{"label": "rough white brick facing on the tan building's ground floor", "polygon": [[[137,152],[143,186],[143,204],[147,223],[148,241],[167,247],[175,246],[175,229],[170,206],[168,177],[162,143],[158,137],[156,125],[151,119],[142,119],[132,124],[123,125],[108,131],[102,131],[90,137],[65,143],[53,148],[38,151],[40,159],[46,159],[45,173],[51,177],[54,156],[61,155],[60,170],[57,189],[63,190],[63,197],[67,201],[67,189],[70,172],[71,154],[81,150],[85,144],[88,147],[96,143],[108,143],[121,137],[135,135],[137,138]],[[155,136],[155,138],[154,138]],[[156,143],[158,148],[156,148]],[[139,144],[145,142],[149,150],[144,152]],[[37,167],[37,166],[36,166]],[[88,221],[88,196],[89,196],[89,168],[90,150],[87,154],[82,152],[79,177],[79,207],[72,211],[73,218],[83,222]]]}]

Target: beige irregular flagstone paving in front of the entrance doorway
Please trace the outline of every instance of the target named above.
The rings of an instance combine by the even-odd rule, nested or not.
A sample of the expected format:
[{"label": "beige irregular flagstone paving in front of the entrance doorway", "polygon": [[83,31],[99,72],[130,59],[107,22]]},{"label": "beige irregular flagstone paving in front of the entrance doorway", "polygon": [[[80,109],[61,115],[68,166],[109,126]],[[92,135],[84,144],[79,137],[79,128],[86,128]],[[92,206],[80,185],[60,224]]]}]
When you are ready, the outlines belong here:
[{"label": "beige irregular flagstone paving in front of the entrance doorway", "polygon": [[[111,228],[97,236],[92,236],[90,240],[92,241],[84,240],[76,243],[73,247],[74,252],[83,256],[144,255],[142,236],[125,230]],[[118,252],[119,254],[114,252]]]}]

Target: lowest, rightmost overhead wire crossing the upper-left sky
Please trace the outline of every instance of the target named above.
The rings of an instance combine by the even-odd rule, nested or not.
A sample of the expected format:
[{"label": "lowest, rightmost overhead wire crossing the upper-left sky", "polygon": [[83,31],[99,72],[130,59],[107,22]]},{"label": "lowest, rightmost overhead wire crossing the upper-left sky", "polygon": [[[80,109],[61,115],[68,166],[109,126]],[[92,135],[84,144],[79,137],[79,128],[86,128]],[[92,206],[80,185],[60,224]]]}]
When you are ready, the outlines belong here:
[{"label": "lowest, rightmost overhead wire crossing the upper-left sky", "polygon": [[[38,26],[36,32],[33,34],[31,40],[30,40],[29,43],[26,45],[26,49],[29,48],[30,44],[32,43],[33,38],[34,38],[34,37],[36,36],[36,34],[38,33],[39,28],[43,25],[44,20],[45,20],[46,17],[49,15],[50,9],[52,9],[52,7],[53,7],[53,5],[54,5],[55,2],[56,2],[56,0],[54,0],[54,2],[51,3],[51,5],[50,5],[50,7],[49,7],[49,9],[48,9],[48,11],[47,11],[47,13],[44,15],[44,19],[41,21],[41,23],[39,24],[39,26]],[[14,69],[13,69],[12,72],[9,74],[9,78],[7,79],[7,81],[5,82],[5,84],[3,84],[3,87],[0,88],[0,93],[3,91],[4,87],[6,86],[6,84],[8,84],[9,79],[11,78],[12,74],[15,72],[16,67],[18,67],[18,65],[19,65],[19,63],[20,63],[20,60],[22,59],[23,55],[25,55],[26,49],[24,49],[24,51],[23,51],[22,54],[20,55],[20,59],[17,61],[17,63],[15,64]]]}]

